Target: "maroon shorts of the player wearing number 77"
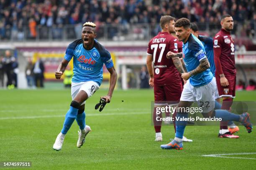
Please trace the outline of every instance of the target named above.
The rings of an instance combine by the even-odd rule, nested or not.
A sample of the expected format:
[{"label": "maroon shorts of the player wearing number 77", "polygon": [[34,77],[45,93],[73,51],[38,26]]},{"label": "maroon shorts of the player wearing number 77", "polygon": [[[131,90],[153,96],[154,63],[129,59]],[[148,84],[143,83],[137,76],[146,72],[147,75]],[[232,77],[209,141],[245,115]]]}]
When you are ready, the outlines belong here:
[{"label": "maroon shorts of the player wearing number 77", "polygon": [[177,104],[182,94],[182,83],[172,85],[156,86],[154,85],[154,96],[156,104]]}]

